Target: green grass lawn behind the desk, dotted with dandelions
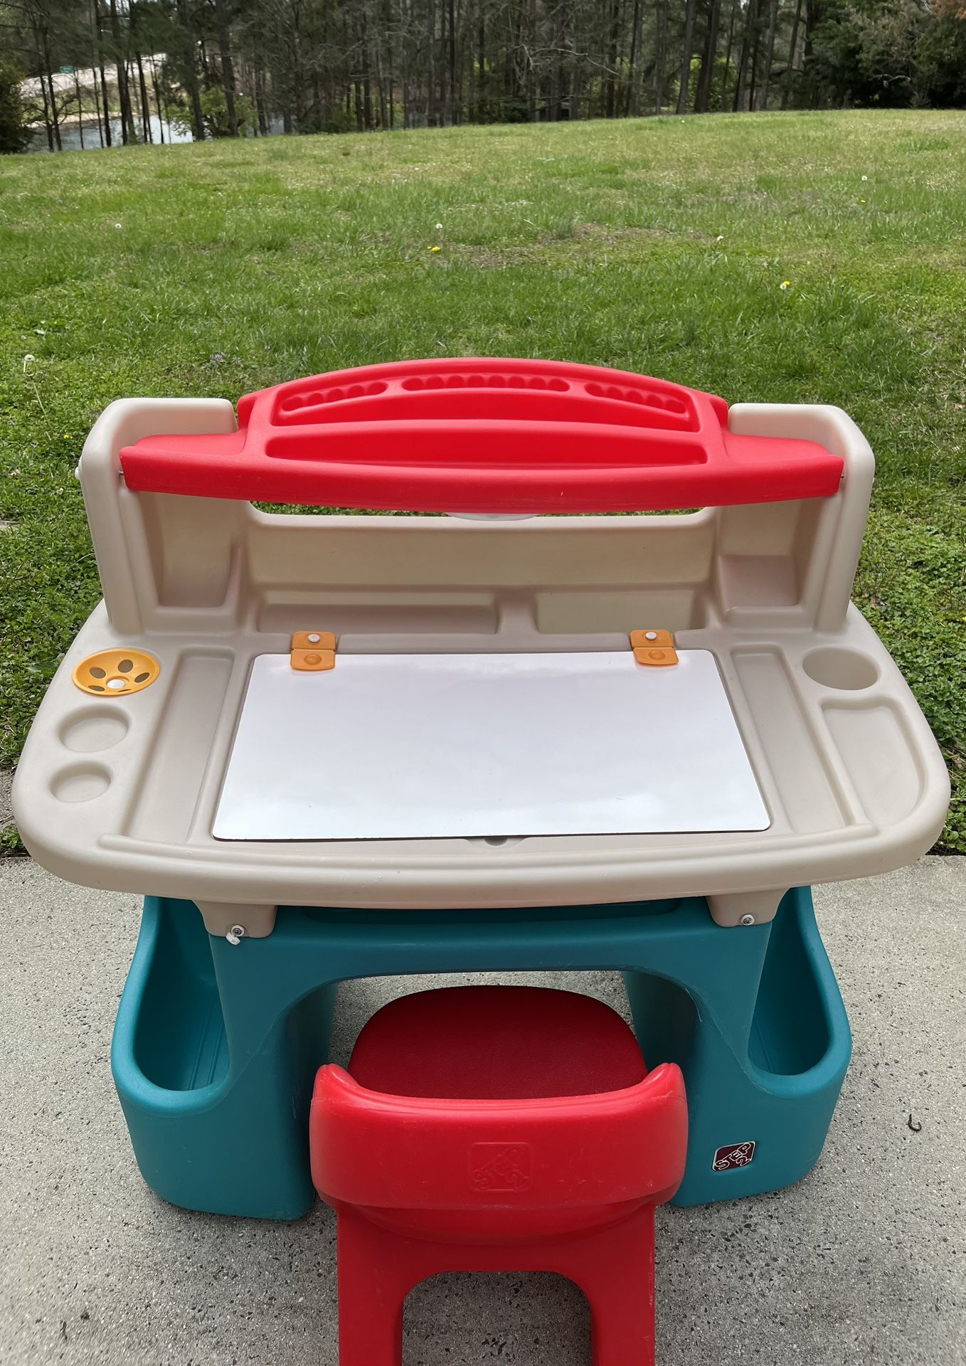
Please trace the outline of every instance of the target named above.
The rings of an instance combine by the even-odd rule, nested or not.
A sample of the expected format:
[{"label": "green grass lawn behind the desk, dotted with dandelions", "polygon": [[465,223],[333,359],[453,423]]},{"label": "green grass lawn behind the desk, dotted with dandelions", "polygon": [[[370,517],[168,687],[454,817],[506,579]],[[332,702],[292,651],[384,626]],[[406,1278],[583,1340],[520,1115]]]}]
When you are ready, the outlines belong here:
[{"label": "green grass lawn behind the desk, dotted with dandelions", "polygon": [[559,357],[855,418],[879,460],[857,600],[959,781],[943,847],[966,852],[965,223],[966,113],[1,158],[0,764],[98,597],[72,470],[112,399]]}]

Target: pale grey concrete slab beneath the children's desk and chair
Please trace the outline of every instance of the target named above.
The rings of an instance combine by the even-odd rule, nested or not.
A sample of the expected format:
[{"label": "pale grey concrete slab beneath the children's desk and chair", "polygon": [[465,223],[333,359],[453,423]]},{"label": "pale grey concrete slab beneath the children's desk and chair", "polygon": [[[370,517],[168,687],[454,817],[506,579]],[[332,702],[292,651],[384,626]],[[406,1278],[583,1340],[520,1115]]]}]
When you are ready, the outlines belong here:
[{"label": "pale grey concrete slab beneath the children's desk and chair", "polygon": [[[816,900],[855,1035],[832,1131],[791,1190],[659,1212],[661,1366],[966,1362],[966,859]],[[109,1068],[135,899],[8,859],[0,912],[0,1362],[335,1363],[329,1210],[190,1214],[138,1175]],[[609,974],[552,981],[623,1004]],[[343,989],[336,1060],[402,989]],[[437,1277],[407,1303],[406,1366],[578,1366],[588,1343],[549,1276]]]}]

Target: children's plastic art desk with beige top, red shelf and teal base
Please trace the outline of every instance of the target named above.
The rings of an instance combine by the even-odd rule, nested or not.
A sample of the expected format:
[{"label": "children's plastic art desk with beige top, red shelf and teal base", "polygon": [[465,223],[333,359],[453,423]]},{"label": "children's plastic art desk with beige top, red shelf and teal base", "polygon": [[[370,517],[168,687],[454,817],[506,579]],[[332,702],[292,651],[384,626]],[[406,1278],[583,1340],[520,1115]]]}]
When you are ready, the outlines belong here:
[{"label": "children's plastic art desk with beige top, red shelf and teal base", "polygon": [[425,971],[622,970],[685,1074],[678,1202],[809,1169],[850,1038],[808,885],[914,859],[948,800],[848,601],[844,413],[404,362],[238,422],[113,403],[79,478],[104,602],[15,814],[60,876],[149,893],[113,1070],[158,1194],[307,1209],[336,985]]}]

